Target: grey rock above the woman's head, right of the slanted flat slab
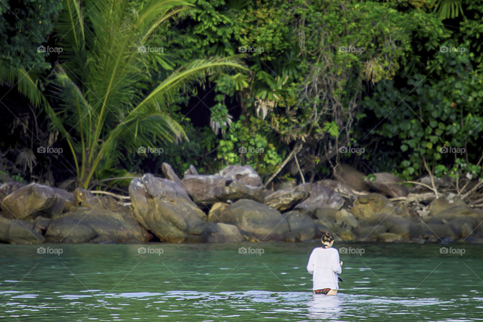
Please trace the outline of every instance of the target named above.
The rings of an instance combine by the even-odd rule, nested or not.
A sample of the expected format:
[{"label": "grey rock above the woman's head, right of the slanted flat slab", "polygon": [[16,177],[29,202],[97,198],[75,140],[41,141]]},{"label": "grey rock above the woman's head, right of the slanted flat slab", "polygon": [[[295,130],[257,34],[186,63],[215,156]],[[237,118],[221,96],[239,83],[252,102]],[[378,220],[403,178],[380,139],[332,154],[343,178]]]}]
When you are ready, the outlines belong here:
[{"label": "grey rock above the woman's head, right of the slanted flat slab", "polygon": [[309,215],[315,214],[317,209],[341,209],[344,199],[331,188],[319,184],[312,184],[310,196],[295,206],[294,210]]}]

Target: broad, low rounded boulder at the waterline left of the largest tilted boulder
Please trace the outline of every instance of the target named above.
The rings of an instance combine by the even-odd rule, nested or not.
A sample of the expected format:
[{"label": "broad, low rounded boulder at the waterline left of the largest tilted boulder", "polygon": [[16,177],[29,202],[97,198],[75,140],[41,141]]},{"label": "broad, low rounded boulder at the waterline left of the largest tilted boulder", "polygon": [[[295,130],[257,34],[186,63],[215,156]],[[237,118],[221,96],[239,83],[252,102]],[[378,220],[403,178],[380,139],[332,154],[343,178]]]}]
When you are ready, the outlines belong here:
[{"label": "broad, low rounded boulder at the waterline left of the largest tilted boulder", "polygon": [[45,236],[56,243],[147,243],[151,239],[131,214],[89,208],[76,208],[51,220]]}]

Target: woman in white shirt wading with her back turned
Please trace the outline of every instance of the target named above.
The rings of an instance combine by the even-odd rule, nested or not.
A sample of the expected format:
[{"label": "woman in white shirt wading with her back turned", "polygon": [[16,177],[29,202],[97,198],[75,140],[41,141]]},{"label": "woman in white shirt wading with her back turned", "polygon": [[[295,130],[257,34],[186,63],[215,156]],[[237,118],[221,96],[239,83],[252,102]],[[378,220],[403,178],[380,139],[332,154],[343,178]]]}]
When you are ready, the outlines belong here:
[{"label": "woman in white shirt wading with her back turned", "polygon": [[332,248],[334,237],[330,232],[322,236],[322,244],[313,249],[307,264],[307,271],[313,275],[313,293],[337,295],[337,274],[342,273],[342,262],[339,251]]}]

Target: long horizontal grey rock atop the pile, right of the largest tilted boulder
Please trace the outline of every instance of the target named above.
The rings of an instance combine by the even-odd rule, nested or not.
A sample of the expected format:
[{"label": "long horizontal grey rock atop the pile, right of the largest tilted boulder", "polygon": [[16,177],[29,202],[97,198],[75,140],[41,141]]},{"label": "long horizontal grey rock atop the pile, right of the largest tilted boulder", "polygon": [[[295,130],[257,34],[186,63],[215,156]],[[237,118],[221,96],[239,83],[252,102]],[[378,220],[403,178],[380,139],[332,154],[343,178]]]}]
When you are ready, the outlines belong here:
[{"label": "long horizontal grey rock atop the pile, right of the largest tilted boulder", "polygon": [[185,176],[183,187],[196,203],[212,205],[228,200],[252,199],[263,202],[264,187],[252,187],[220,176]]}]

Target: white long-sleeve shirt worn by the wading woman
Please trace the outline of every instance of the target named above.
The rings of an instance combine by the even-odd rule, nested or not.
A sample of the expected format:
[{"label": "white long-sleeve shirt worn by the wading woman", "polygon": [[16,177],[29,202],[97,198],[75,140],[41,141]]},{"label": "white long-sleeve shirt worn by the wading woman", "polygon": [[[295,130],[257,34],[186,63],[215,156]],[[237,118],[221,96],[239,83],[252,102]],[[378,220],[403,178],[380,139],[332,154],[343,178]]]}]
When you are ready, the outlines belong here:
[{"label": "white long-sleeve shirt worn by the wading woman", "polygon": [[337,274],[342,273],[339,251],[335,248],[314,248],[308,259],[307,271],[313,275],[313,290],[338,290]]}]

